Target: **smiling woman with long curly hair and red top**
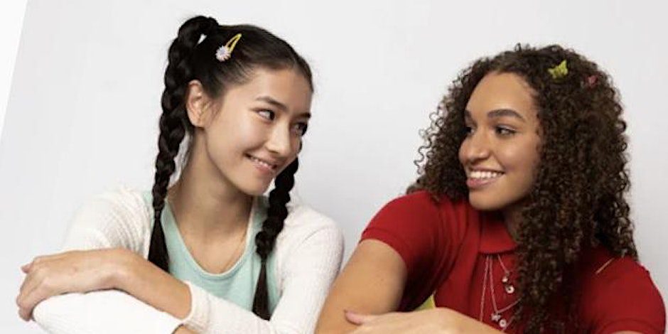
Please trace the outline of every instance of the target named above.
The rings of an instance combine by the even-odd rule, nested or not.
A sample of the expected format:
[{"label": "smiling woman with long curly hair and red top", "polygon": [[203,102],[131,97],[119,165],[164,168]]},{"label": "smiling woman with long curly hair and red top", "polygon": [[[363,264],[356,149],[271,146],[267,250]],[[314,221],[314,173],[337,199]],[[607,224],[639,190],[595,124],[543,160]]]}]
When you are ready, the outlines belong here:
[{"label": "smiling woman with long curly hair and red top", "polygon": [[[518,45],[475,61],[316,332],[664,333],[632,237],[621,116],[610,77],[572,50]],[[432,295],[435,308],[412,311]]]}]

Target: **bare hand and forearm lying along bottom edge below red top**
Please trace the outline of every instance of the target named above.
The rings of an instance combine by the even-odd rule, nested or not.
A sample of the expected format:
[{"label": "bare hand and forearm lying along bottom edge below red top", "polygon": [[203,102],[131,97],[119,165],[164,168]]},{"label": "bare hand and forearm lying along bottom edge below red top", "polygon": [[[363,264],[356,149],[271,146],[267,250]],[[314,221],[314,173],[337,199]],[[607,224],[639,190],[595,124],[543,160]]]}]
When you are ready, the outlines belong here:
[{"label": "bare hand and forearm lying along bottom edge below red top", "polygon": [[449,308],[431,308],[406,313],[392,312],[378,316],[346,311],[348,322],[359,325],[359,333],[501,333],[478,320]]}]

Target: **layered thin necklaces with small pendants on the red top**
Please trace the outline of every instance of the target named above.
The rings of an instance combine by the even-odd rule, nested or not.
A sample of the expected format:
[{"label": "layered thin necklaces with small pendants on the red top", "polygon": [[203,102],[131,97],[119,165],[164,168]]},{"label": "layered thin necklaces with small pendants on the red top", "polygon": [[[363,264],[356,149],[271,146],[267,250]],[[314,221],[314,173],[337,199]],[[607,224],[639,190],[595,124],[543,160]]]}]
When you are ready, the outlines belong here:
[{"label": "layered thin necklaces with small pendants on the red top", "polygon": [[[499,260],[499,264],[501,265],[501,269],[503,270],[503,277],[501,278],[501,284],[503,285],[503,291],[507,295],[512,295],[515,293],[515,286],[512,285],[512,282],[510,281],[510,270],[508,270],[503,264],[503,261],[501,260],[501,256],[499,254],[496,255],[497,259]],[[480,298],[480,316],[478,316],[478,320],[480,322],[483,322],[483,313],[485,312],[485,297],[487,295],[487,284],[490,286],[490,294],[492,296],[492,313],[490,314],[490,320],[492,320],[493,323],[496,323],[499,328],[501,328],[502,332],[505,332],[507,328],[510,327],[510,324],[512,323],[512,320],[515,319],[515,315],[509,315],[509,314],[504,314],[507,311],[510,311],[512,308],[514,308],[517,303],[519,303],[519,299],[515,299],[512,303],[508,304],[507,306],[504,307],[499,307],[497,302],[496,302],[496,296],[495,296],[495,291],[494,291],[494,274],[492,274],[492,255],[487,255],[485,257],[485,273],[483,274],[483,296]],[[488,283],[489,282],[489,283]],[[510,318],[509,318],[510,316]]]}]

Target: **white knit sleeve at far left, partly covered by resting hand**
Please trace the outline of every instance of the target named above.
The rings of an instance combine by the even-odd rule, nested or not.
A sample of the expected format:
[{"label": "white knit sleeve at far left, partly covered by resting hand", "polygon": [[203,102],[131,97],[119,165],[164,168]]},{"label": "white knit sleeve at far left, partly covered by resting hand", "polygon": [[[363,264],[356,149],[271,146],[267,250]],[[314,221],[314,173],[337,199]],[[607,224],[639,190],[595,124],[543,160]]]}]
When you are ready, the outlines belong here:
[{"label": "white knit sleeve at far left, partly covered by resting hand", "polygon": [[[144,252],[150,229],[141,195],[119,189],[75,214],[63,250],[122,247]],[[66,293],[39,303],[33,319],[48,333],[172,333],[181,321],[123,291]]]}]

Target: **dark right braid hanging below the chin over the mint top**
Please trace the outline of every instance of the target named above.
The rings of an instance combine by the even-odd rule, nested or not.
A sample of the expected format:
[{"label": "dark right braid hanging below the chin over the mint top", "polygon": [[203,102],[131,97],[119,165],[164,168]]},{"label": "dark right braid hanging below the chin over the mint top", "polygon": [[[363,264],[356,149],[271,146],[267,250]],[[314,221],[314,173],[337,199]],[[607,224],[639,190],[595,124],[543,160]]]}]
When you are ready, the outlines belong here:
[{"label": "dark right braid hanging below the chin over the mint top", "polygon": [[253,313],[264,320],[269,320],[269,293],[266,282],[266,259],[269,253],[274,249],[276,236],[283,230],[283,224],[288,217],[286,204],[290,202],[290,190],[294,185],[294,174],[299,167],[298,160],[295,159],[285,168],[274,181],[276,187],[269,193],[269,208],[267,209],[266,220],[262,223],[262,231],[255,236],[257,245],[257,254],[262,259],[262,268],[257,279],[255,287],[255,297],[253,300]]}]

